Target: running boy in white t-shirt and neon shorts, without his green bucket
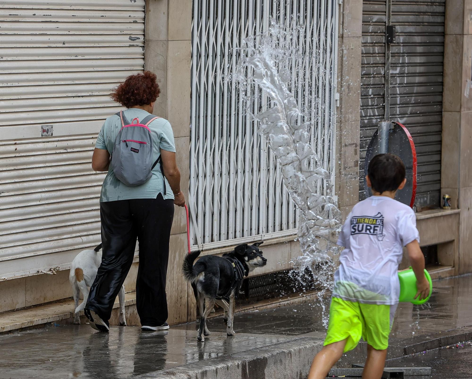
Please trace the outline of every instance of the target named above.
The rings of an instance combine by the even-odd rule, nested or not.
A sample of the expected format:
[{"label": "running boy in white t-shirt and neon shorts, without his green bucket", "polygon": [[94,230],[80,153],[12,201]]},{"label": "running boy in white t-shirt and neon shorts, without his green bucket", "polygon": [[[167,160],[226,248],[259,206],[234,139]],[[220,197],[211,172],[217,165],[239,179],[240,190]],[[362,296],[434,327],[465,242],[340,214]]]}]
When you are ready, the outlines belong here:
[{"label": "running boy in white t-shirt and neon shorts, without his green bucket", "polygon": [[399,157],[372,158],[367,184],[373,196],[354,206],[339,235],[337,244],[345,249],[334,275],[328,332],[308,379],[326,378],[343,352],[354,349],[361,337],[367,342],[362,378],[381,378],[400,295],[398,265],[403,246],[417,279],[416,297],[429,295],[415,214],[394,199],[405,183],[405,165]]}]

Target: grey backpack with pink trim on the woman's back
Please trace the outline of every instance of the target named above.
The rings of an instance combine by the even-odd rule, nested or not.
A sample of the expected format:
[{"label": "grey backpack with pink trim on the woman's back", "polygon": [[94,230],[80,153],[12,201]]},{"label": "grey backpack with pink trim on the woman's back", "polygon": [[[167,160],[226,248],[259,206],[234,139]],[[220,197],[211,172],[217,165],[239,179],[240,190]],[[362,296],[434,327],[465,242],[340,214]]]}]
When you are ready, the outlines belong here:
[{"label": "grey backpack with pink trim on the woman's back", "polygon": [[[157,118],[148,115],[141,122],[137,118],[130,123],[123,111],[119,111],[122,128],[118,132],[115,146],[111,153],[110,168],[115,176],[127,186],[135,187],[148,181],[152,176],[152,169],[162,161],[160,156],[152,162],[152,136],[148,125]],[[165,181],[164,181],[165,188]]]}]

